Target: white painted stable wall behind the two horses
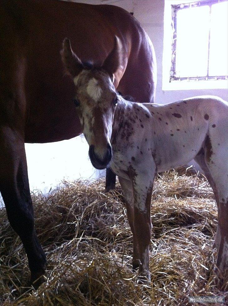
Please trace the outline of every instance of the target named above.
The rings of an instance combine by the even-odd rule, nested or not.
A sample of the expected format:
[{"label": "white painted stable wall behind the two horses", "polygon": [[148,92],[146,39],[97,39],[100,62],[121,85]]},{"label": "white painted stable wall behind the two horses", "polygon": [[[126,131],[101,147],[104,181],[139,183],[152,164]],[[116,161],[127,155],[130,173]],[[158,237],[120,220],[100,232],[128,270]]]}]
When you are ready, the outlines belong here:
[{"label": "white painted stable wall behind the two horses", "polygon": [[[167,1],[170,4],[173,0]],[[78,0],[76,2],[113,4],[134,13],[134,17],[140,21],[153,42],[156,53],[158,66],[156,103],[168,103],[197,95],[216,95],[228,100],[227,88],[162,90],[164,0]],[[26,154],[31,190],[41,189],[43,193],[47,193],[63,179],[80,177],[92,179],[102,175],[91,166],[88,160],[88,145],[81,137],[52,144],[26,144]]]}]

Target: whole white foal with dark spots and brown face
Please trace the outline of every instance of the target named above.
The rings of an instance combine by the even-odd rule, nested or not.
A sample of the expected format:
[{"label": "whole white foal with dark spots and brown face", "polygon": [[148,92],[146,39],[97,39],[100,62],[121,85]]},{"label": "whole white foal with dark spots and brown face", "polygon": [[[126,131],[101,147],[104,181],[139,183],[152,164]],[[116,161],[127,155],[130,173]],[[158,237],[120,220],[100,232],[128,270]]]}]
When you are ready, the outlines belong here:
[{"label": "whole white foal with dark spots and brown face", "polygon": [[[150,281],[151,194],[157,172],[194,159],[203,169],[218,205],[217,272],[222,278],[228,258],[227,102],[201,96],[165,105],[135,103],[117,95],[118,39],[102,67],[88,67],[68,40],[61,52],[75,83],[74,103],[89,144],[94,167],[109,166],[118,175],[133,234],[133,268]],[[115,59],[115,60],[113,60]]]}]

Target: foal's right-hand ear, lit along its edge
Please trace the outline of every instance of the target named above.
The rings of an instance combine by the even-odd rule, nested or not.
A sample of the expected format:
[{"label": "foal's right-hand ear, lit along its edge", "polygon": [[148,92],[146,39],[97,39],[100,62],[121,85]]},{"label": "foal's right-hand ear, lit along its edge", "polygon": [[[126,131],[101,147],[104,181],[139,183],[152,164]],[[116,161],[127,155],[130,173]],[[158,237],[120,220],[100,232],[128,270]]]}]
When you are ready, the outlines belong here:
[{"label": "foal's right-hand ear, lit along its edge", "polygon": [[113,74],[117,72],[117,70],[121,66],[121,53],[122,53],[122,43],[115,35],[114,37],[114,47],[112,51],[109,53],[109,55],[106,57],[106,60],[104,61],[102,68],[108,72],[108,74],[111,77],[111,80],[113,80]]}]

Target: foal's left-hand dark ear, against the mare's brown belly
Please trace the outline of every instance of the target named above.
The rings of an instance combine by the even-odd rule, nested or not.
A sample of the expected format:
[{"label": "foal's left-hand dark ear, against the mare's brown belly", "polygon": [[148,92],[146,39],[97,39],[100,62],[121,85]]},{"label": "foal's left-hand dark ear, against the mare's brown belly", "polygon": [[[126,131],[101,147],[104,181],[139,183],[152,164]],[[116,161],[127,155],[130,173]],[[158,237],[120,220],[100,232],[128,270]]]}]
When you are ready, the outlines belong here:
[{"label": "foal's left-hand dark ear, against the mare's brown belly", "polygon": [[68,38],[64,38],[63,48],[60,51],[60,54],[62,56],[62,61],[66,71],[72,75],[72,77],[78,75],[83,69],[83,64],[77,55],[72,51],[70,40]]}]

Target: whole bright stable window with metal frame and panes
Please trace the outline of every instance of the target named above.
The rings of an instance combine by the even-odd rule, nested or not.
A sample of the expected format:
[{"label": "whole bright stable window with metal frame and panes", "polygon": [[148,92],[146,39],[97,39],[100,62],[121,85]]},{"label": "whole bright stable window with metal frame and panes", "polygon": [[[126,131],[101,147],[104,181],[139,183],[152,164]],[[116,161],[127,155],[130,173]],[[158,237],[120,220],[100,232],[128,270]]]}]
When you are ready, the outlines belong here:
[{"label": "whole bright stable window with metal frame and panes", "polygon": [[227,0],[172,5],[169,82],[227,80],[227,12]]}]

